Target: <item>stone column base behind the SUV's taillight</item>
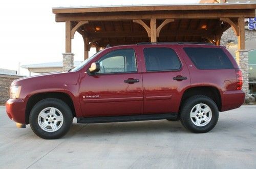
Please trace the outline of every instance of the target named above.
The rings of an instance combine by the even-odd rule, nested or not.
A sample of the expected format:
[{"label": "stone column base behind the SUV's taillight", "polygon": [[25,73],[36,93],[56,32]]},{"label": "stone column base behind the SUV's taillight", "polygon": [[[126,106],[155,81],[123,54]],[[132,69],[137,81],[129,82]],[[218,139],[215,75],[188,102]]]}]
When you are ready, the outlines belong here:
[{"label": "stone column base behind the SUV's taillight", "polygon": [[242,90],[249,94],[249,58],[248,50],[237,50],[236,51],[236,61],[242,71],[243,75],[243,86]]}]

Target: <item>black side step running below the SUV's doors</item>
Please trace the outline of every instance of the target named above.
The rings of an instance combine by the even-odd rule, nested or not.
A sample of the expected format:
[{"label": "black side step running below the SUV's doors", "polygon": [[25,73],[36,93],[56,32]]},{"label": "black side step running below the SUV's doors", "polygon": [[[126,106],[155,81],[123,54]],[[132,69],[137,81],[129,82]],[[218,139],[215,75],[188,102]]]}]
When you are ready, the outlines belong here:
[{"label": "black side step running below the SUV's doors", "polygon": [[144,120],[161,120],[175,119],[177,112],[167,114],[152,114],[152,115],[130,115],[130,116],[105,116],[105,117],[87,117],[77,118],[77,123],[111,123],[111,122],[131,122]]}]

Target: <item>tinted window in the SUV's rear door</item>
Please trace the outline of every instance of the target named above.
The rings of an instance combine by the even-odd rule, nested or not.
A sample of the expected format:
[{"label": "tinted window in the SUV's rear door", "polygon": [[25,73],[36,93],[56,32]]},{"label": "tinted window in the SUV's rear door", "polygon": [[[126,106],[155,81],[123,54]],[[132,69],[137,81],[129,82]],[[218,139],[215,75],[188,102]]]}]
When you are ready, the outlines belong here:
[{"label": "tinted window in the SUV's rear door", "polygon": [[178,70],[180,60],[173,49],[170,48],[145,48],[144,58],[147,71]]}]

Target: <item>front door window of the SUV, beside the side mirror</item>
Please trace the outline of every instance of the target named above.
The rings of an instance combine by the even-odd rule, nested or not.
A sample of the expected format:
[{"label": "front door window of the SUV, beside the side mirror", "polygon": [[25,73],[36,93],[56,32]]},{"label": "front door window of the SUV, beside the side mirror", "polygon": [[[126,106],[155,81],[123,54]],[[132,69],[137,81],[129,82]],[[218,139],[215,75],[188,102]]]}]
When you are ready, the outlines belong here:
[{"label": "front door window of the SUV, beside the side mirror", "polygon": [[99,61],[98,73],[136,72],[135,51],[133,49],[120,49],[105,54]]}]

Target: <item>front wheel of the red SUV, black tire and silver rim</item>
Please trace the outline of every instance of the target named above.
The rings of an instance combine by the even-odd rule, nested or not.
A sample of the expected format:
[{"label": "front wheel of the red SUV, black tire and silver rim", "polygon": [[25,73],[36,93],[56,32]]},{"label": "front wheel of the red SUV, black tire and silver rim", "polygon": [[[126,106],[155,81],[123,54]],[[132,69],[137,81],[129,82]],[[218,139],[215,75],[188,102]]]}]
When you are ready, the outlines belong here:
[{"label": "front wheel of the red SUV, black tire and silver rim", "polygon": [[73,122],[70,107],[62,100],[47,98],[36,103],[29,115],[33,132],[44,139],[57,139],[65,135]]}]

